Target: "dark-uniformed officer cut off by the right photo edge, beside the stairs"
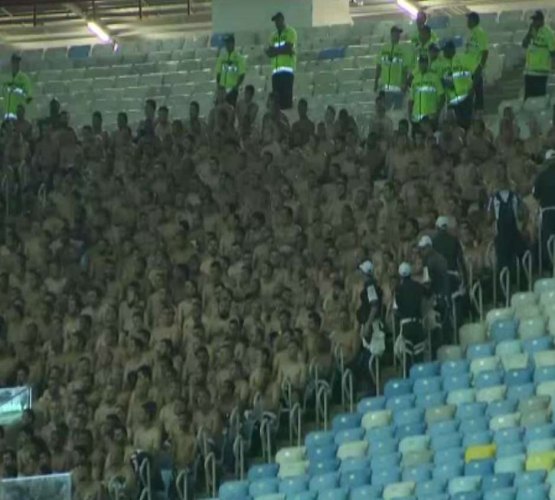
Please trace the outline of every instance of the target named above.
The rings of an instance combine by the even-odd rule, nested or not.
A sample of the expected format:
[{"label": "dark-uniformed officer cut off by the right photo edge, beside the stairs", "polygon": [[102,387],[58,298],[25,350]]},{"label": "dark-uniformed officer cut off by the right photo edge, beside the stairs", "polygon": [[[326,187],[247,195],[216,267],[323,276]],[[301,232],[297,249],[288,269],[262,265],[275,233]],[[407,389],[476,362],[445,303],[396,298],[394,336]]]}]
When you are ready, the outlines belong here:
[{"label": "dark-uniformed officer cut off by the right photo edge, beside the stairs", "polygon": [[540,208],[545,210],[541,216],[542,265],[548,263],[549,252],[547,241],[555,234],[555,149],[545,153],[545,168],[538,174],[534,183],[534,198],[538,200]]}]

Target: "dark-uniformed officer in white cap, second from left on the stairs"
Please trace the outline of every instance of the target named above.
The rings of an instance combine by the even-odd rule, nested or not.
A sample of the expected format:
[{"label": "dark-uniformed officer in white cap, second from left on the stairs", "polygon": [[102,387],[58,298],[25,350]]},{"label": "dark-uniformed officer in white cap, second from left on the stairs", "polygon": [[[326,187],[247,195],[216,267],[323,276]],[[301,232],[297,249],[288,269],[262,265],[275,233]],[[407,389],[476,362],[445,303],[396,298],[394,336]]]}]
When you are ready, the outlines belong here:
[{"label": "dark-uniformed officer in white cap, second from left on the stairs", "polygon": [[422,311],[427,290],[411,277],[412,268],[403,262],[399,266],[400,282],[395,289],[394,309],[399,321],[399,337],[403,351],[403,375],[414,363],[424,361],[426,334],[422,326]]}]

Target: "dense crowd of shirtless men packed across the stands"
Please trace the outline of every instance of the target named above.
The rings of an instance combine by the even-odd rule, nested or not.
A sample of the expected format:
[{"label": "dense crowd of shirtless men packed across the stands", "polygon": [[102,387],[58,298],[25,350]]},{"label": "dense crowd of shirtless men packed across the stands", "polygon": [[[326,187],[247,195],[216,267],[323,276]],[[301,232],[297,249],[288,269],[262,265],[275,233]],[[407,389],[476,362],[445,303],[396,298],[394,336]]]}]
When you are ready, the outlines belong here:
[{"label": "dense crowd of shirtless men packed across the stands", "polygon": [[3,124],[0,384],[32,386],[34,404],[2,433],[2,477],[71,471],[79,499],[123,478],[135,498],[135,450],[191,467],[201,429],[224,447],[236,407],[279,412],[285,380],[302,398],[336,346],[368,375],[365,259],[385,313],[400,263],[425,281],[418,243],[438,218],[477,279],[495,193],[515,193],[534,243],[555,125],[530,116],[521,137],[507,108],[499,130],[446,112],[411,134],[382,93],[369,124],[331,105],[313,117],[302,98],[290,120],[252,86],[225,97],[186,118],[148,100],[136,130],[121,112],[113,133],[100,112],[76,130],[56,100],[36,124],[22,105]]}]

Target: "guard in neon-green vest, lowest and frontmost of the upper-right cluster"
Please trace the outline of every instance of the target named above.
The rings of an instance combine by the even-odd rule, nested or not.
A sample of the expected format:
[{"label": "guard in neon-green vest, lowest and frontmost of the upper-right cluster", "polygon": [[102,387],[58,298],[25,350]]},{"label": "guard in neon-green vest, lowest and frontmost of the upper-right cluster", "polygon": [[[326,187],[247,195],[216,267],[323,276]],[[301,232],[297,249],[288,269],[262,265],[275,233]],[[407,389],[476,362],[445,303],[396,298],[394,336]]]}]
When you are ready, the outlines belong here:
[{"label": "guard in neon-green vest, lowest and frontmost of the upper-right cluster", "polygon": [[409,118],[413,133],[424,118],[428,118],[434,129],[436,128],[443,101],[444,91],[439,75],[430,70],[428,57],[420,56],[418,72],[415,73],[410,88]]}]

